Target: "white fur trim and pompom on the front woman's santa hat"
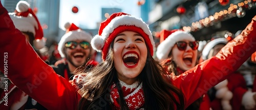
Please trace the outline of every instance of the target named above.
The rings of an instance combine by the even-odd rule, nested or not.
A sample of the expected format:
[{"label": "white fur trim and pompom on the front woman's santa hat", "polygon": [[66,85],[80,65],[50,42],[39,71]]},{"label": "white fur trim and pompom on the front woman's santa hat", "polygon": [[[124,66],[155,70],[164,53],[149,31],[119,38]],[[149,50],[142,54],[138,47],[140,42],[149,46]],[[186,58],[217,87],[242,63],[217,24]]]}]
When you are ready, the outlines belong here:
[{"label": "white fur trim and pompom on the front woman's santa hat", "polygon": [[[136,26],[141,28],[150,38],[153,50],[155,49],[155,42],[152,33],[146,23],[141,18],[136,18],[131,15],[121,15],[113,18],[110,23],[103,29],[101,35],[96,35],[93,37],[91,45],[94,50],[101,52],[103,46],[105,45],[106,39],[109,35],[119,26]],[[151,48],[151,47],[150,47]]]}]

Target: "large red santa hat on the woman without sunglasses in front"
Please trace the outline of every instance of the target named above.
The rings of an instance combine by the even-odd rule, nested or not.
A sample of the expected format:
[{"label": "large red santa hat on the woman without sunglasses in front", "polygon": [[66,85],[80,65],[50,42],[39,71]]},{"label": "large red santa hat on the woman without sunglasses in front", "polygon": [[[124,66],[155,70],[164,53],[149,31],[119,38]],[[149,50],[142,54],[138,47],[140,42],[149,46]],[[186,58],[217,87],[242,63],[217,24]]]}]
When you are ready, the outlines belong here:
[{"label": "large red santa hat on the woman without sunglasses in front", "polygon": [[124,31],[134,31],[139,33],[145,40],[151,55],[154,54],[154,39],[148,26],[141,18],[136,18],[126,13],[114,13],[100,24],[99,32],[92,39],[93,49],[102,52],[103,61],[106,59],[108,49],[112,40]]}]

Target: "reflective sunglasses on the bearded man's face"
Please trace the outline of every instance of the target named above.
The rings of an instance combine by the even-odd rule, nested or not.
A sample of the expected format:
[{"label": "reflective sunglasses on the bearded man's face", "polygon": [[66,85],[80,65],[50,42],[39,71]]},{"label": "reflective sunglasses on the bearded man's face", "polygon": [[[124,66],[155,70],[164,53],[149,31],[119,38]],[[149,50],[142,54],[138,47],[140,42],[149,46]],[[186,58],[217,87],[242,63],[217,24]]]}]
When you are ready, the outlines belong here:
[{"label": "reflective sunglasses on the bearded man's face", "polygon": [[88,49],[90,47],[90,43],[87,41],[68,41],[65,43],[65,47],[69,49],[75,49],[78,45],[80,45],[83,49]]}]

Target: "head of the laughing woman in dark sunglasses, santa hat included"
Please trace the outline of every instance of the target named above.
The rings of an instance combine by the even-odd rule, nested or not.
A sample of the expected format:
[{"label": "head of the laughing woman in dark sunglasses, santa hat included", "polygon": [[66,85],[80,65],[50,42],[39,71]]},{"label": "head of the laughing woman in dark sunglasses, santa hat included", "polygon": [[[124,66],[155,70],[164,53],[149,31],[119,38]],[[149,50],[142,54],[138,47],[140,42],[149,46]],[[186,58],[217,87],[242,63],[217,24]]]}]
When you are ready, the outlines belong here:
[{"label": "head of the laughing woman in dark sunglasses, santa hat included", "polygon": [[198,41],[183,30],[162,30],[160,45],[157,47],[157,58],[164,61],[172,58],[175,63],[175,75],[195,67],[197,60]]}]

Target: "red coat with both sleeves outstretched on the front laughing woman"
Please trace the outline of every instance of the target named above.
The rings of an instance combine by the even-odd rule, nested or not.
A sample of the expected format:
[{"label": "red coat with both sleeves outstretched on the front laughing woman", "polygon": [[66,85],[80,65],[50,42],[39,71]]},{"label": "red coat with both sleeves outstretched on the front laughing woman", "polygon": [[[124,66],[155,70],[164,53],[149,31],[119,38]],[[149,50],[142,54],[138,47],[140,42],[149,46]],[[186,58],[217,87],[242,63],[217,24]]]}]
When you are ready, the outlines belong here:
[{"label": "red coat with both sleeves outstretched on the front laughing woman", "polygon": [[[20,90],[46,108],[76,109],[80,99],[76,85],[72,85],[57,75],[48,64],[39,58],[25,36],[15,29],[2,4],[0,5],[0,24],[0,54],[2,57],[0,58],[0,70],[4,71],[6,69],[4,65],[8,64],[9,79]],[[256,28],[256,23],[251,25]],[[249,33],[247,37],[246,33]],[[256,51],[256,47],[250,45],[256,42],[256,38],[253,38],[256,37],[254,36],[256,32],[247,31],[246,33],[244,32],[244,36],[238,36],[229,42],[215,57],[196,65],[180,76],[173,77],[173,84],[184,93],[185,107],[225,79],[225,76],[236,71]],[[7,56],[4,57],[4,55]]]}]

